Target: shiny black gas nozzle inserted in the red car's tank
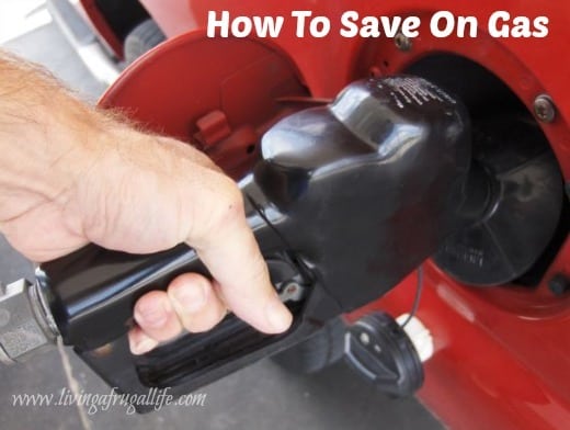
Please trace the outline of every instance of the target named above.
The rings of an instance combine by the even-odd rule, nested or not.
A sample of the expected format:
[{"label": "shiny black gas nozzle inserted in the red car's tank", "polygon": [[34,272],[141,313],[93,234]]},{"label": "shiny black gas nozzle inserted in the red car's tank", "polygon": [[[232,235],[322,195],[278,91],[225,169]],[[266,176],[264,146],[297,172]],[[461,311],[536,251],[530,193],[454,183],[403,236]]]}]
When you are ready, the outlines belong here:
[{"label": "shiny black gas nozzle inserted in the red car's tank", "polygon": [[42,264],[38,285],[64,341],[110,384],[183,394],[376,299],[474,223],[489,196],[483,173],[469,178],[470,160],[465,108],[414,77],[357,81],[332,104],[276,123],[240,186],[276,288],[303,290],[287,299],[295,321],[285,335],[230,315],[207,333],[130,355],[135,301],[182,272],[207,274],[183,245],[152,256],[89,246]]}]

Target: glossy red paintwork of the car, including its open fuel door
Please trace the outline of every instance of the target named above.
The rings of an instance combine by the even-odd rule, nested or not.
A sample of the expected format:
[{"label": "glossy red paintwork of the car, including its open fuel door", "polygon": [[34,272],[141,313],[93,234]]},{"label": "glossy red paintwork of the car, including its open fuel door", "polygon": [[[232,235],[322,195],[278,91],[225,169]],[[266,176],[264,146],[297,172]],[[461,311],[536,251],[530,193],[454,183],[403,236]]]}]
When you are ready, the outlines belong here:
[{"label": "glossy red paintwork of the car, including its open fuel door", "polygon": [[[145,3],[152,10],[149,4],[157,1]],[[163,14],[160,25],[171,27],[172,33],[179,33],[183,27],[203,29],[207,11],[214,7],[218,11],[229,10],[232,15],[250,16],[288,16],[290,10],[309,8],[300,0],[218,0],[184,4],[189,7],[193,22],[187,22],[184,14],[172,13]],[[440,0],[431,2],[426,9],[425,2],[419,0],[315,0],[310,9],[315,14],[329,16],[333,23],[345,10],[356,10],[361,15],[421,15],[424,25],[435,10],[478,16],[483,27],[479,29],[477,38],[437,39],[423,27],[421,36],[413,39],[413,47],[407,53],[398,50],[391,39],[384,37],[368,41],[335,36],[338,26],[322,39],[307,37],[300,41],[289,25],[280,38],[263,42],[270,44],[270,50],[278,58],[295,65],[292,69],[298,70],[316,98],[334,97],[347,82],[367,76],[371,69],[380,75],[396,73],[431,53],[448,52],[470,58],[506,82],[529,110],[537,94],[550,94],[558,116],[554,123],[543,124],[543,129],[566,181],[570,180],[567,123],[570,118],[570,60],[566,53],[570,39],[570,3],[511,0],[498,5],[495,2],[476,4]],[[485,33],[485,23],[497,9],[506,10],[511,15],[547,15],[549,35],[542,39],[491,38]],[[261,133],[272,116],[284,114],[284,111],[260,110],[259,103],[266,106],[263,103],[267,102],[259,95],[260,91],[266,91],[258,84],[263,80],[262,71],[258,71],[261,78],[238,80],[235,86],[227,86],[231,77],[228,69],[233,69],[236,61],[239,64],[248,55],[254,56],[252,53],[256,50],[239,41],[232,43],[235,45],[228,48],[219,39],[204,41],[198,33],[175,38],[129,68],[103,98],[102,104],[127,108],[134,117],[155,129],[189,139],[195,132],[192,127],[197,117],[226,103],[223,111],[231,105],[228,109],[239,113],[233,127],[256,124],[253,128]],[[260,52],[264,53],[261,57],[269,55],[263,48]],[[205,69],[201,71],[203,67]],[[287,69],[281,68],[282,71]],[[293,93],[298,93],[298,87],[293,90],[294,87]],[[220,88],[231,91],[218,90]],[[220,97],[221,93],[225,97]],[[220,102],[221,99],[225,102]],[[193,131],[189,132],[189,128]],[[243,140],[238,140],[239,147]],[[233,166],[238,158],[242,168],[251,161],[243,155],[243,148],[239,151],[232,148],[231,143],[226,143],[225,149],[218,147],[217,161]],[[426,263],[418,316],[432,331],[436,351],[426,363],[426,381],[419,396],[443,422],[454,429],[474,430],[563,429],[570,426],[570,296],[554,297],[547,290],[546,281],[555,273],[570,275],[569,240],[536,290],[516,286],[472,288],[453,282],[431,262]],[[409,310],[413,295],[414,275],[410,275],[388,295],[350,317],[373,308],[399,315]]]}]

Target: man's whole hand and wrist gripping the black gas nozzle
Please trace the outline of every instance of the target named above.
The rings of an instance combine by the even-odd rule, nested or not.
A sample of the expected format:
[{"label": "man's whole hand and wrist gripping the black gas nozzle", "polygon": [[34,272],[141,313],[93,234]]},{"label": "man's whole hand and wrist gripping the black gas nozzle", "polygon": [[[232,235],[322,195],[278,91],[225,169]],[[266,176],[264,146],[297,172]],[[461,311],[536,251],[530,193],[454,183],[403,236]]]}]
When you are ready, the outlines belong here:
[{"label": "man's whole hand and wrist gripping the black gas nozzle", "polygon": [[88,242],[150,253],[186,242],[214,280],[183,274],[135,305],[134,353],[182,329],[204,331],[231,309],[276,333],[292,316],[271,286],[241,193],[202,152],[140,133],[0,55],[0,230],[47,261]]}]

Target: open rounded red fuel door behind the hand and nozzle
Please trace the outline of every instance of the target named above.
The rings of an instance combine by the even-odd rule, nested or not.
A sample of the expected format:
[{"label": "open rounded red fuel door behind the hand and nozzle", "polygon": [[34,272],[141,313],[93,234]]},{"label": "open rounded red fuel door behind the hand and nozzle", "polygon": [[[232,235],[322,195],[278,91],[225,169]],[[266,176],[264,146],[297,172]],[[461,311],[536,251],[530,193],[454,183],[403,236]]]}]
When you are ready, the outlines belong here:
[{"label": "open rounded red fuel door behind the hand and nozzle", "polygon": [[197,31],[135,61],[100,104],[193,144],[238,179],[267,127],[299,109],[281,99],[306,95],[298,71],[278,52],[250,39],[213,43]]}]

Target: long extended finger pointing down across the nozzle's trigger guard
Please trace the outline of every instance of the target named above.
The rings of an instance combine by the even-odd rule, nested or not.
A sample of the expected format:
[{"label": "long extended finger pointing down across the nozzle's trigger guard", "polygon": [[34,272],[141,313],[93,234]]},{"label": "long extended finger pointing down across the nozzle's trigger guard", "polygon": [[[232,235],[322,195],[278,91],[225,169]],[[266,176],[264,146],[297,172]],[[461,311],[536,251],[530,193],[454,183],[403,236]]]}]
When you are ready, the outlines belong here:
[{"label": "long extended finger pointing down across the nozzle's trigger guard", "polygon": [[[227,191],[226,191],[227,192]],[[229,195],[229,197],[228,197]],[[271,285],[267,267],[243,216],[241,192],[235,186],[217,194],[216,217],[198,236],[196,251],[219,282],[227,305],[241,319],[266,333],[285,331],[292,315]],[[189,239],[193,244],[193,238]]]}]

